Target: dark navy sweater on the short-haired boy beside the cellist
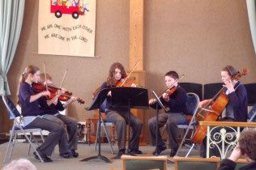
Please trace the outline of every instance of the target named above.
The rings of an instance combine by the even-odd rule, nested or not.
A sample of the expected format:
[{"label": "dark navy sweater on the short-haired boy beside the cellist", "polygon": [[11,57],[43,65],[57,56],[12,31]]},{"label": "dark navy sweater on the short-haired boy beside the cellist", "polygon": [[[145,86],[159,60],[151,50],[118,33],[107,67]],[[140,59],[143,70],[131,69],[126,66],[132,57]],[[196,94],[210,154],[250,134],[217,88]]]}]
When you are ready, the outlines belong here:
[{"label": "dark navy sweater on the short-haired boy beside the cellist", "polygon": [[[186,91],[181,86],[177,86],[177,90],[170,95],[169,101],[165,101],[163,97],[160,97],[160,101],[165,107],[169,108],[168,113],[187,113]],[[156,108],[156,103],[152,104],[151,108]]]}]

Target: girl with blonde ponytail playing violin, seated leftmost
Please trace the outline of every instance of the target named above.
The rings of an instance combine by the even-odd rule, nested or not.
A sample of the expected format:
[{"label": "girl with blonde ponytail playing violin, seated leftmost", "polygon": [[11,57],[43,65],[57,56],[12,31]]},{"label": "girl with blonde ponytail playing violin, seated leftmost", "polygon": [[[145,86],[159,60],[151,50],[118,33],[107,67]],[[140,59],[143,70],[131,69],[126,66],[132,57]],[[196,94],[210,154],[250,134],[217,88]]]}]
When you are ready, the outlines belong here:
[{"label": "girl with blonde ponytail playing violin, seated leftmost", "polygon": [[[42,117],[44,109],[41,108],[41,100],[43,96],[49,96],[49,91],[36,92],[32,88],[32,83],[37,83],[40,79],[40,70],[37,66],[27,66],[20,77],[18,88],[18,103],[21,106],[23,115],[23,125],[29,128],[41,128],[48,130],[49,135],[45,142],[41,144],[36,151],[41,155],[45,162],[52,162],[50,156],[54,147],[65,138],[65,130],[62,125],[58,125],[53,121],[49,121]],[[39,157],[35,154],[35,158]]]}]

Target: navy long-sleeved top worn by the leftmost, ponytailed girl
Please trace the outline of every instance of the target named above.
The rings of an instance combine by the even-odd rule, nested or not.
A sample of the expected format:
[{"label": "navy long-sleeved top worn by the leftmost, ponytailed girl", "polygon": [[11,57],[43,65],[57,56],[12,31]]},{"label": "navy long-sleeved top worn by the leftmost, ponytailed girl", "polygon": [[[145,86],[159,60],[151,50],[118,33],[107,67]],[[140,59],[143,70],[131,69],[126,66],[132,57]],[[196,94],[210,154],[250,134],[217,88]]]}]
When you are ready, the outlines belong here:
[{"label": "navy long-sleeved top worn by the leftmost, ponytailed girl", "polygon": [[30,97],[36,95],[36,91],[30,84],[23,82],[19,86],[19,104],[23,117],[43,115],[44,109],[41,108],[41,98],[30,102]]}]

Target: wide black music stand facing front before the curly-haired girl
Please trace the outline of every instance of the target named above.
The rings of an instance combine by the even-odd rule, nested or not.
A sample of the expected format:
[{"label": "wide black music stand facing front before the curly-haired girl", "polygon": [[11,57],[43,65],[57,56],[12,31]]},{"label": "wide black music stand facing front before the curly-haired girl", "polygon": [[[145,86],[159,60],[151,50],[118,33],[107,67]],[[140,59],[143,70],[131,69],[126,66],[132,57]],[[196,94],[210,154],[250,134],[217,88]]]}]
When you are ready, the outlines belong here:
[{"label": "wide black music stand facing front before the curly-haired girl", "polygon": [[[130,108],[148,108],[147,89],[140,87],[113,87],[111,88],[113,108],[123,108],[130,112]],[[130,114],[128,116],[128,125],[130,125]],[[130,153],[130,128],[128,128],[128,150]]]}]

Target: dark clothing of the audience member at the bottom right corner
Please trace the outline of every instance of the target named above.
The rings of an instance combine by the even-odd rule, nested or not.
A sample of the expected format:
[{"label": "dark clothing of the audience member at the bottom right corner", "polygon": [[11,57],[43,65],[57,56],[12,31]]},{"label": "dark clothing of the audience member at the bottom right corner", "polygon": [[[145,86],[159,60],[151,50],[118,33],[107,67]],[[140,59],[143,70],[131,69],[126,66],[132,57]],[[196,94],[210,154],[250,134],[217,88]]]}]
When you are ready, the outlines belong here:
[{"label": "dark clothing of the audience member at the bottom right corner", "polygon": [[[222,159],[218,170],[235,170],[237,163],[230,159]],[[246,164],[239,170],[256,170],[256,161]]]}]

